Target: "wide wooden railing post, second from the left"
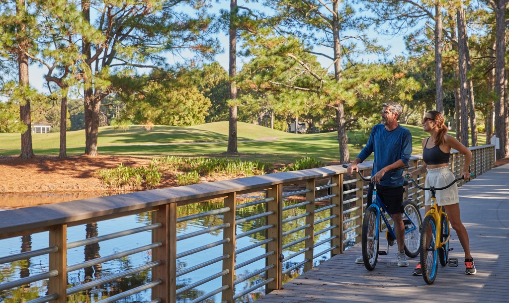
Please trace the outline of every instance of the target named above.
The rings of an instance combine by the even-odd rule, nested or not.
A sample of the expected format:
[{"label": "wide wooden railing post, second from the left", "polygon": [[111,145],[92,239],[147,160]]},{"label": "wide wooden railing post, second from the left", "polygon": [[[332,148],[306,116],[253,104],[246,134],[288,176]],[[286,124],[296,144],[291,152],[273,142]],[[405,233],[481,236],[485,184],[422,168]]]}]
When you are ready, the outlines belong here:
[{"label": "wide wooden railing post, second from the left", "polygon": [[160,279],[161,284],[152,289],[152,299],[161,298],[162,303],[177,301],[177,203],[159,206],[152,213],[152,223],[161,223],[152,231],[152,243],[162,246],[152,250],[152,261],[160,260],[161,265],[152,268],[152,281]]}]

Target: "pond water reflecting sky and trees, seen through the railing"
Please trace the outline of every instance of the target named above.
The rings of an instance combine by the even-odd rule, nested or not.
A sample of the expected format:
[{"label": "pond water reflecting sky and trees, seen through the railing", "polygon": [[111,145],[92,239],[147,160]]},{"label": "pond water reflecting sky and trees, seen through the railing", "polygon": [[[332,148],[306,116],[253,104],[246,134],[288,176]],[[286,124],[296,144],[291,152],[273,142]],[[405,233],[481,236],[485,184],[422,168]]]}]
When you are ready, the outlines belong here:
[{"label": "pond water reflecting sky and trees, seen through the railing", "polygon": [[[17,195],[18,201],[23,201],[23,206],[32,206],[32,205],[38,205],[37,203],[41,203],[40,198],[41,194],[37,195]],[[58,194],[48,194],[48,195],[58,195]],[[101,193],[101,195],[107,195],[107,193]],[[253,195],[253,194],[250,194]],[[263,198],[263,193],[260,193],[260,196]],[[11,198],[13,198],[13,194],[9,195],[8,197],[6,194],[0,194],[0,201],[9,200],[12,201]],[[97,196],[97,195],[96,195]],[[91,196],[88,196],[87,198],[90,198]],[[54,197],[54,199],[59,199],[58,197]],[[60,197],[62,199],[65,199],[66,197]],[[82,195],[75,194],[73,196],[74,199],[68,199],[69,196],[67,196],[67,199],[65,201],[69,200],[75,200],[75,199],[83,199],[84,197]],[[249,197],[249,196],[238,196],[238,203],[244,203],[248,201],[252,201],[256,199],[257,197]],[[258,197],[260,198],[260,197]],[[35,201],[38,202],[35,202]],[[302,202],[303,200],[286,200],[285,206]],[[0,204],[0,209],[9,209],[13,208],[14,203],[4,203]],[[20,204],[18,203],[16,207],[19,207]],[[178,217],[188,216],[192,214],[198,214],[202,213],[203,211],[208,211],[212,209],[221,208],[223,206],[222,200],[221,201],[211,201],[211,202],[203,202],[203,203],[194,203],[189,204],[185,206],[179,206],[178,207]],[[316,205],[316,208],[323,207],[325,205]],[[9,211],[9,210],[6,210]],[[245,207],[237,210],[237,219],[249,217],[255,214],[263,213],[265,211],[264,204],[259,204],[251,207]],[[305,213],[305,207],[298,207],[294,208],[288,211],[284,211],[283,219],[297,216],[299,214]],[[322,211],[319,214],[316,214],[315,221],[330,216],[330,211],[325,210]],[[179,223],[177,225],[177,233],[178,235],[186,234],[190,232],[194,232],[197,230],[205,229],[214,225],[220,225],[223,223],[223,219],[221,215],[217,216],[209,216],[204,217],[200,219],[190,220],[186,222]],[[322,230],[324,228],[327,228],[329,226],[330,221],[318,224],[315,227],[315,231]],[[142,213],[138,215],[133,216],[126,216],[122,218],[112,219],[112,220],[106,220],[101,221],[97,223],[90,223],[80,226],[73,226],[69,227],[67,231],[68,236],[68,242],[76,241],[88,237],[93,236],[100,236],[104,234],[109,234],[112,232],[122,231],[126,229],[131,229],[135,227],[145,226],[151,224],[151,213]],[[301,218],[289,223],[286,223],[283,225],[283,231],[288,231],[294,228],[297,228],[299,226],[302,226],[305,224],[305,218]],[[237,225],[237,234],[261,227],[265,225],[265,218],[261,218],[258,220],[246,222],[243,224]],[[299,231],[297,233],[293,233],[289,236],[284,237],[283,245],[288,244],[294,240],[300,239],[304,237],[304,231]],[[329,232],[325,232],[318,237],[315,237],[315,243],[324,240],[326,238],[330,237]],[[215,231],[208,234],[203,234],[200,236],[196,236],[193,238],[185,239],[178,241],[177,243],[177,253],[181,253],[187,250],[190,250],[192,248],[195,248],[197,246],[202,246],[208,243],[212,243],[214,241],[218,241],[222,239],[222,231]],[[243,237],[238,239],[237,241],[237,249],[246,247],[249,245],[252,245],[254,243],[257,243],[261,240],[265,239],[265,231],[252,234],[248,237]],[[84,247],[78,247],[75,249],[68,250],[68,259],[67,264],[72,265],[76,263],[80,263],[83,261],[91,260],[94,258],[97,258],[99,256],[107,256],[114,253],[130,250],[133,248],[137,248],[140,246],[148,245],[151,243],[151,231],[146,231],[142,233],[137,233],[117,239],[111,239],[102,241],[98,244],[93,245],[87,245]],[[45,248],[48,246],[48,232],[41,232],[32,234],[29,236],[22,236],[22,237],[14,237],[9,239],[0,240],[0,257],[15,254],[19,252],[24,251],[30,251],[30,250],[36,250]],[[288,255],[291,255],[295,252],[298,252],[304,248],[304,242],[301,242],[291,248],[288,248],[284,251],[285,257]],[[321,251],[324,251],[326,249],[330,248],[330,242],[321,245],[320,247],[317,247],[315,249],[315,254]],[[249,250],[247,252],[244,252],[242,254],[238,254],[236,256],[236,262],[244,262],[249,259],[252,259],[256,256],[264,254],[265,246],[260,246],[258,248]],[[217,246],[211,249],[208,249],[206,251],[196,253],[189,255],[184,258],[178,259],[177,263],[177,271],[189,268],[191,266],[194,266],[196,264],[202,263],[206,260],[210,260],[216,257],[219,257],[222,255],[222,246]],[[322,255],[320,258],[317,258],[314,260],[314,265],[318,265],[319,263],[327,260],[330,257],[330,253],[327,253],[325,255]],[[283,268],[289,268],[301,261],[304,260],[304,254],[301,254],[287,262],[284,262]],[[140,252],[128,257],[116,259],[109,262],[104,262],[102,264],[98,264],[92,267],[76,270],[69,272],[67,279],[68,279],[68,285],[75,286],[82,283],[90,282],[95,279],[99,279],[102,277],[109,276],[111,274],[114,274],[119,271],[124,271],[136,266],[144,265],[151,262],[151,253],[150,251],[144,251]],[[31,258],[30,260],[21,260],[16,261],[12,263],[6,263],[0,265],[0,283],[13,281],[19,278],[33,276],[36,274],[40,274],[41,272],[47,271],[48,266],[48,256],[40,256]],[[240,268],[238,271],[236,271],[237,279],[242,278],[243,276],[246,276],[250,274],[250,272],[256,271],[258,269],[261,269],[265,267],[265,259],[253,262],[243,268]],[[209,265],[207,267],[204,267],[202,269],[193,271],[187,275],[183,275],[179,278],[177,278],[177,288],[184,287],[186,285],[192,284],[196,281],[199,281],[205,277],[208,277],[212,274],[215,274],[216,272],[219,272],[222,270],[222,264],[221,262]],[[286,275],[284,277],[284,283],[291,280],[292,278],[298,276],[300,271],[294,271],[292,273],[292,276]],[[253,277],[249,280],[246,280],[236,286],[236,293],[241,292],[244,289],[247,289],[253,285],[258,284],[260,281],[264,279],[264,274],[260,276]],[[69,303],[78,303],[78,302],[97,302],[101,299],[110,297],[112,295],[118,294],[122,291],[125,291],[127,289],[134,288],[136,286],[145,284],[151,280],[151,272],[150,270],[141,272],[139,274],[129,276],[117,281],[113,281],[110,283],[106,283],[104,285],[98,286],[93,288],[92,290],[82,291],[73,295],[68,296],[68,302]],[[189,302],[190,300],[197,298],[207,292],[210,292],[218,287],[221,286],[221,278],[215,279],[213,281],[210,281],[206,284],[201,285],[200,287],[197,287],[196,289],[188,290],[184,292],[183,294],[178,296],[178,302]],[[245,295],[242,298],[239,298],[237,302],[250,302],[254,299],[258,298],[260,295],[263,295],[264,293],[264,287],[258,289],[257,291],[253,293],[249,293]],[[30,285],[25,285],[19,288],[6,290],[0,292],[0,302],[6,302],[6,303],[18,303],[27,301],[30,299],[37,298],[38,296],[47,294],[47,280],[32,283]],[[138,293],[136,295],[130,296],[128,298],[125,298],[123,300],[120,300],[119,302],[147,302],[150,301],[151,296],[151,290],[143,291],[141,293]],[[208,302],[220,302],[221,297],[220,294],[211,297],[210,300],[207,300]]]}]

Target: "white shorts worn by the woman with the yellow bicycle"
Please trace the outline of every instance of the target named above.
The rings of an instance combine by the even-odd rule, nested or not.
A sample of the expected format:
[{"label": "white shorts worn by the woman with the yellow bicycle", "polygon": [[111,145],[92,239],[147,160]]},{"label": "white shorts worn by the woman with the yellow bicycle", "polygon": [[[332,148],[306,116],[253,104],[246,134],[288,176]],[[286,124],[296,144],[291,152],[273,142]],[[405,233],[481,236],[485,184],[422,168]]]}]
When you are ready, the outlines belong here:
[{"label": "white shorts worn by the woman with the yellow bicycle", "polygon": [[[426,175],[425,187],[445,187],[454,181],[456,177],[449,170],[448,166],[428,169]],[[450,205],[460,202],[460,196],[458,194],[458,184],[453,184],[451,187],[445,190],[436,191],[437,204]],[[424,205],[431,205],[431,192],[426,191]]]}]

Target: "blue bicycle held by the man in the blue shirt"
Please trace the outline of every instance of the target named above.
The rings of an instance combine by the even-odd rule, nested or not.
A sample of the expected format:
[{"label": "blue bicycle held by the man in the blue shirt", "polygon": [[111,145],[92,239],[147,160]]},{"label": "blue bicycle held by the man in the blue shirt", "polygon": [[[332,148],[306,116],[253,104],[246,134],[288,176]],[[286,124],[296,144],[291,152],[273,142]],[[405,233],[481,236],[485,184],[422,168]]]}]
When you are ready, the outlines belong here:
[{"label": "blue bicycle held by the man in the blue shirt", "polygon": [[[348,168],[348,165],[343,165]],[[387,171],[382,177],[382,180],[387,178],[390,172],[394,170],[401,170],[407,168],[403,166],[397,169]],[[358,172],[361,179],[365,181],[371,181],[370,177],[365,178]],[[404,180],[404,186],[408,186],[408,181]],[[362,220],[362,259],[364,266],[367,270],[375,269],[377,264],[378,255],[386,255],[389,251],[389,246],[394,245],[396,234],[394,233],[394,225],[390,225],[388,218],[386,217],[387,208],[385,204],[377,196],[377,184],[373,184],[373,202],[369,207],[366,208],[364,213],[364,219]],[[415,258],[420,252],[420,232],[419,227],[422,223],[419,208],[414,202],[407,200],[403,202],[403,224],[405,225],[405,254],[410,258]],[[380,219],[381,218],[381,219]],[[381,222],[385,223],[387,230],[385,232],[385,238],[387,239],[387,251],[379,252],[378,248],[380,245],[380,227]]]}]

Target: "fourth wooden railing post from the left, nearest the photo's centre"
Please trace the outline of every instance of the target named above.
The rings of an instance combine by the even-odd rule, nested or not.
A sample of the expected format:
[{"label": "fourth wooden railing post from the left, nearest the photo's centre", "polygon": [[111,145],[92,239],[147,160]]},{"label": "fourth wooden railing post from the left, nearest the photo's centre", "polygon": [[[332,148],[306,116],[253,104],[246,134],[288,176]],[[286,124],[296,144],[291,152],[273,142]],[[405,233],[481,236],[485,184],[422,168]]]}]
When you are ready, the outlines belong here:
[{"label": "fourth wooden railing post from the left, nearest the photo's centre", "polygon": [[268,191],[268,197],[274,198],[274,201],[267,203],[267,211],[274,211],[274,214],[267,216],[266,225],[274,224],[274,227],[267,230],[267,238],[274,238],[274,241],[267,243],[267,251],[274,251],[273,255],[267,257],[267,264],[274,264],[274,267],[267,270],[266,279],[273,278],[274,281],[269,282],[265,288],[265,292],[269,293],[276,289],[281,289],[282,282],[282,262],[279,261],[279,256],[283,253],[282,241],[282,215],[283,215],[283,202],[282,202],[282,185],[274,185]]}]

